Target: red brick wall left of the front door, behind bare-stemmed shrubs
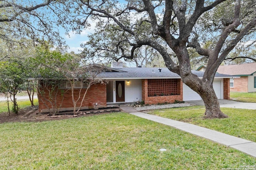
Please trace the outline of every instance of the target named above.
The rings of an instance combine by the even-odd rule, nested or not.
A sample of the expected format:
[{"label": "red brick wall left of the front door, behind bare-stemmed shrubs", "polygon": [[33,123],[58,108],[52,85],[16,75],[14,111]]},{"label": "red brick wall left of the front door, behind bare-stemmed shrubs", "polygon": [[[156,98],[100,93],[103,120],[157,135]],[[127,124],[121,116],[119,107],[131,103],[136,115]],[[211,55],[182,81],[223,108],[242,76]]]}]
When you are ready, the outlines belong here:
[{"label": "red brick wall left of the front door, behind bare-stemmed shrubs", "polygon": [[[67,89],[63,89],[63,90],[67,90]],[[74,89],[75,99],[78,98],[79,90],[80,89]],[[82,91],[81,91],[81,98],[80,98],[80,100],[78,101],[78,103],[76,105],[77,107],[79,107],[80,104],[81,104],[82,97],[83,97],[83,94],[84,94],[85,90],[86,89],[82,89]],[[47,92],[46,92],[46,94],[47,94]],[[48,107],[52,108],[52,106],[49,102],[47,102],[45,100],[44,100],[44,102],[42,102],[42,100],[44,100],[44,98],[42,98],[42,96],[39,94],[38,95],[39,112],[42,112],[45,109],[47,109],[44,102],[48,105]],[[106,85],[104,85],[104,84],[94,84],[90,87],[90,89],[88,89],[87,94],[84,98],[82,107],[94,108],[95,103],[98,104],[97,107],[106,107],[107,106],[106,101],[107,101],[107,99],[106,99]],[[58,95],[57,95],[57,106],[58,107],[60,107],[61,102],[62,102],[62,96],[61,96],[61,90],[59,89]],[[74,108],[74,105],[73,105],[73,102],[72,102],[72,91],[71,90],[68,90],[67,92],[64,93],[64,99],[63,99],[61,108],[62,109]],[[69,110],[72,110],[72,109],[69,109]]]}]

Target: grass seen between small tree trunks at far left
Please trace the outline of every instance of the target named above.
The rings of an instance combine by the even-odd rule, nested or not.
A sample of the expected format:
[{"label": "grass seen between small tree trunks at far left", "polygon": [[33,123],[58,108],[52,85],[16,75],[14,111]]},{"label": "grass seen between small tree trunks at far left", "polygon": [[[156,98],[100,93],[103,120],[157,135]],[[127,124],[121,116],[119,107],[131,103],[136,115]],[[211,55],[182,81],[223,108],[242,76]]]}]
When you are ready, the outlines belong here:
[{"label": "grass seen between small tree trunks at far left", "polygon": [[[17,100],[17,101],[18,101],[18,107],[20,109],[22,109],[24,107],[31,106],[29,100]],[[34,105],[38,105],[38,99],[34,99]],[[12,102],[10,102],[10,110],[11,109],[12,109]],[[0,113],[7,112],[7,111],[8,111],[7,102],[6,101],[0,101]]]}]

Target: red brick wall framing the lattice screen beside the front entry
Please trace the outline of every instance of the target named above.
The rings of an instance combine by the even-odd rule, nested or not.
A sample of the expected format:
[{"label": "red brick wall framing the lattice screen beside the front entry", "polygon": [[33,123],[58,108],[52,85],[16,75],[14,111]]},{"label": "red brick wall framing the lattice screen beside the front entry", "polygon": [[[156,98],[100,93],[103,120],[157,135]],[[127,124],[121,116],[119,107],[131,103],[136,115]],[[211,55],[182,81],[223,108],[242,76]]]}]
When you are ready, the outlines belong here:
[{"label": "red brick wall framing the lattice screen beside the front entry", "polygon": [[181,80],[178,82],[177,88],[180,90],[180,95],[148,97],[148,79],[142,79],[142,100],[145,104],[158,104],[164,102],[173,103],[175,100],[183,101],[183,87]]}]

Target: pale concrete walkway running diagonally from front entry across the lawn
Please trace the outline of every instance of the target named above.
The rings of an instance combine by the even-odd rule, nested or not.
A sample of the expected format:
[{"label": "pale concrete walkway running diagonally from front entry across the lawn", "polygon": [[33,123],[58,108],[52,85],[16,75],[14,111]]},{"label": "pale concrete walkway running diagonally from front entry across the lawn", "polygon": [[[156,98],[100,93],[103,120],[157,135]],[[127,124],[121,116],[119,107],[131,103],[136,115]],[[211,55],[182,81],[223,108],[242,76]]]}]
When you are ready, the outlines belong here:
[{"label": "pale concrete walkway running diagonally from front entry across the lawn", "polygon": [[210,130],[204,127],[200,127],[197,125],[192,125],[190,123],[184,123],[180,121],[175,121],[172,119],[167,119],[164,117],[159,117],[155,115],[149,115],[146,113],[138,112],[132,107],[129,106],[120,106],[124,112],[130,113],[132,115],[136,115],[138,117],[142,117],[144,119],[152,120],[158,123],[162,123],[164,125],[175,127],[176,129],[180,129],[182,131],[192,133],[194,135],[210,139],[211,141],[226,145],[228,147],[240,150],[246,154],[256,157],[256,143],[252,141],[248,141],[245,139],[241,139],[238,137],[234,137],[231,135],[227,135],[225,133],[220,133],[218,131]]}]

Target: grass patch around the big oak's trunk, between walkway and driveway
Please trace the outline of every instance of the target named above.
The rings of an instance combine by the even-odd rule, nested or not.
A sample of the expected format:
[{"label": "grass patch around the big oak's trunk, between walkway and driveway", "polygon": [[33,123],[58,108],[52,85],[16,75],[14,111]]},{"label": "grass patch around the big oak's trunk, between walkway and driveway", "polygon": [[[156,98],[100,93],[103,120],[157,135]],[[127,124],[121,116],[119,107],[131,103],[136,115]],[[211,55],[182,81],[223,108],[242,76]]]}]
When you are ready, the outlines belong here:
[{"label": "grass patch around the big oak's trunk, between walkway and driveway", "polygon": [[150,114],[192,123],[256,142],[255,110],[234,108],[221,108],[221,110],[229,117],[226,119],[204,119],[205,107],[203,106],[151,110]]}]

